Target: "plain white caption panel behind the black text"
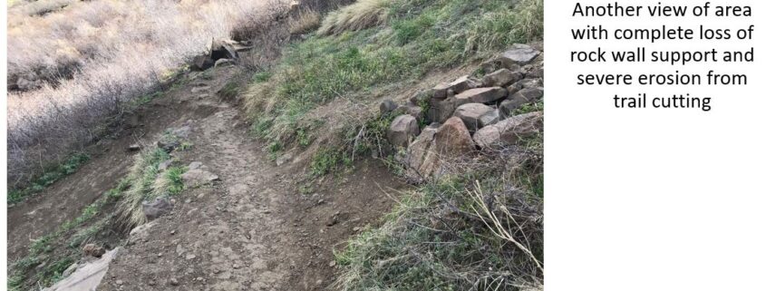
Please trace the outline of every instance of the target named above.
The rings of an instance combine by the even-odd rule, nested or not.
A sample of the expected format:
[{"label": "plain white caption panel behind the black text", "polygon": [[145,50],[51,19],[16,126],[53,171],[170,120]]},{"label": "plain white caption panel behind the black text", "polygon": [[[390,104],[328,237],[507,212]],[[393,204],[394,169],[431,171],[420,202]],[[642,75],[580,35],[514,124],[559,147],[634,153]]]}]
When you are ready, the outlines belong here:
[{"label": "plain white caption panel behind the black text", "polygon": [[[662,1],[703,5],[705,1]],[[730,18],[572,17],[545,4],[546,290],[766,290],[766,3]],[[606,5],[608,1],[582,1]],[[614,4],[614,1],[611,2]],[[620,1],[656,5],[657,1]],[[691,9],[691,8],[690,8]],[[643,13],[647,11],[644,10]],[[756,63],[569,63],[569,52],[646,42],[575,41],[586,24],[741,28],[752,41],[671,41],[654,49],[756,46]],[[747,86],[577,86],[577,73],[747,73]],[[696,70],[699,69],[699,70]],[[615,109],[615,93],[713,97],[713,110]]]}]

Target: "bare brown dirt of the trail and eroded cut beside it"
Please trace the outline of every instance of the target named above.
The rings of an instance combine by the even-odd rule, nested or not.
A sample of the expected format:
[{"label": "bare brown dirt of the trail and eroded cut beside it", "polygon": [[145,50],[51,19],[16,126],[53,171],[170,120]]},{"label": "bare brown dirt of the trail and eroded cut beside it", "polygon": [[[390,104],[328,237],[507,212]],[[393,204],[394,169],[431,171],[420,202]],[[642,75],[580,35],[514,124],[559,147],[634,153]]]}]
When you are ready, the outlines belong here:
[{"label": "bare brown dirt of the trail and eroded cut beside it", "polygon": [[357,160],[353,170],[319,180],[305,179],[305,160],[277,167],[249,137],[236,105],[216,93],[236,73],[218,68],[212,78],[194,78],[150,102],[136,113],[142,127],[105,143],[77,173],[9,209],[11,258],[114,187],[131,165],[124,150],[130,143],[150,143],[167,128],[189,125],[193,146],[174,153],[178,163],[199,161],[220,180],[174,197],[170,215],[122,247],[98,289],[328,288],[333,250],[377,223],[392,208],[391,195],[408,186],[375,160]]}]

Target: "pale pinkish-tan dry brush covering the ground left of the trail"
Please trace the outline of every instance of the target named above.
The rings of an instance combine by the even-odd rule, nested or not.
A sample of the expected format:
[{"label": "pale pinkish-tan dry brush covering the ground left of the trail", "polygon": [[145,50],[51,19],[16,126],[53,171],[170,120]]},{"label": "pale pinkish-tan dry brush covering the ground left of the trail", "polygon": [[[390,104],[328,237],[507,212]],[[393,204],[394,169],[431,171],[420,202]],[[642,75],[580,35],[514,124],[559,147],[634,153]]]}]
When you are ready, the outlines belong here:
[{"label": "pale pinkish-tan dry brush covering the ground left of the trail", "polygon": [[[64,6],[63,8],[61,8]],[[121,104],[156,90],[211,38],[228,38],[286,13],[286,0],[39,0],[8,13],[8,178],[98,138]],[[41,15],[44,14],[44,15]],[[14,88],[11,88],[14,89]]]}]

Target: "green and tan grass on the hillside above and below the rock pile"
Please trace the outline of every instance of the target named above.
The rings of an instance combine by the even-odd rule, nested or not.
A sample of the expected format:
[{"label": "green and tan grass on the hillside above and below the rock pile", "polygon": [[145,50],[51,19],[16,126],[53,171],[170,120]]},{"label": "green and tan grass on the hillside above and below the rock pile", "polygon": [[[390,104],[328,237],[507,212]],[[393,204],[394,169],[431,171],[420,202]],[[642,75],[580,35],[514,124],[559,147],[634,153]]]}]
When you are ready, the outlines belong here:
[{"label": "green and tan grass on the hillside above and below the rock pile", "polygon": [[[541,40],[542,15],[538,0],[361,0],[340,8],[254,75],[244,95],[253,131],[276,156],[294,147],[315,150],[309,166],[315,177],[365,153],[402,173],[384,138],[393,116],[378,115],[374,101],[511,44]],[[542,101],[517,113],[541,109]],[[325,120],[328,110],[342,116]],[[541,289],[542,140],[540,133],[455,164],[461,174],[426,180],[405,194],[382,227],[336,250],[343,270],[336,287]],[[322,145],[312,147],[317,141]]]}]

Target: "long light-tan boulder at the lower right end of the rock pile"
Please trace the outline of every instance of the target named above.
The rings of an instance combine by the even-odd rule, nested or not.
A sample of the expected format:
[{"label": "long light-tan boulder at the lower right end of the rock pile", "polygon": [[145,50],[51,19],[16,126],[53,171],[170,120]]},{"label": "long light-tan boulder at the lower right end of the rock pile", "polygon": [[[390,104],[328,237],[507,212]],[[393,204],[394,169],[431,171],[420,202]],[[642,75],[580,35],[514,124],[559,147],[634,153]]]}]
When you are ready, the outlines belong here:
[{"label": "long light-tan boulder at the lower right end of the rock pile", "polygon": [[543,113],[530,112],[510,117],[507,120],[484,127],[473,134],[473,141],[481,150],[499,150],[506,146],[516,145],[543,126]]}]

